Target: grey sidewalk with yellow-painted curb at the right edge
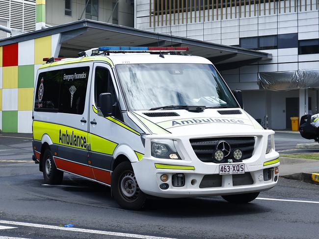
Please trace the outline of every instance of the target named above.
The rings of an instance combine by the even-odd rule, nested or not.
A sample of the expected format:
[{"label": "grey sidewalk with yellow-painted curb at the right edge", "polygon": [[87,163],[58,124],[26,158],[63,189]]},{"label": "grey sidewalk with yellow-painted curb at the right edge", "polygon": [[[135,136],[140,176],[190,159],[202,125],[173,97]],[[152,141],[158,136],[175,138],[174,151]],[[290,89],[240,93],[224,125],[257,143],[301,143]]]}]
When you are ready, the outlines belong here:
[{"label": "grey sidewalk with yellow-painted curb at the right edge", "polygon": [[318,184],[319,160],[280,157],[279,172],[284,178]]}]

